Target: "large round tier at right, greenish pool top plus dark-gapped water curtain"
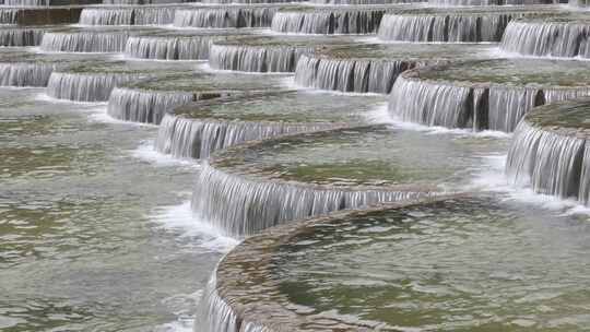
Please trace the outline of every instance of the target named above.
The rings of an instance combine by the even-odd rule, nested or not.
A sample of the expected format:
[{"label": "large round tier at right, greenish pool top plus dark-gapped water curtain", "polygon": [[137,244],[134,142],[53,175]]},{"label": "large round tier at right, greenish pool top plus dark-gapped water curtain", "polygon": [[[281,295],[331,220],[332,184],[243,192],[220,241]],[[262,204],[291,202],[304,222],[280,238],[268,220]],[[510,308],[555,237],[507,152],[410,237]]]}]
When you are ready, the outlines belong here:
[{"label": "large round tier at right, greenish pool top plus dark-gapped water curtain", "polygon": [[488,60],[402,74],[389,111],[404,121],[511,132],[534,106],[590,94],[590,64],[552,60]]}]

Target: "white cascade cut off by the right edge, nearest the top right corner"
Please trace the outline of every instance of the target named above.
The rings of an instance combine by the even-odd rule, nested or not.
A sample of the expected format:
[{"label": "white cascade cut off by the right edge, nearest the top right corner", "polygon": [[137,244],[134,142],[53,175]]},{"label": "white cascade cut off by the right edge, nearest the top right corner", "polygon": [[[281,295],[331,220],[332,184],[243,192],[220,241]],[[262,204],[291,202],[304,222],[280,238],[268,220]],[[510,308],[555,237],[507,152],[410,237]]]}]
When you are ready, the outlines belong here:
[{"label": "white cascade cut off by the right edge, nearest the top right corner", "polygon": [[528,56],[590,58],[590,24],[510,22],[500,48]]}]

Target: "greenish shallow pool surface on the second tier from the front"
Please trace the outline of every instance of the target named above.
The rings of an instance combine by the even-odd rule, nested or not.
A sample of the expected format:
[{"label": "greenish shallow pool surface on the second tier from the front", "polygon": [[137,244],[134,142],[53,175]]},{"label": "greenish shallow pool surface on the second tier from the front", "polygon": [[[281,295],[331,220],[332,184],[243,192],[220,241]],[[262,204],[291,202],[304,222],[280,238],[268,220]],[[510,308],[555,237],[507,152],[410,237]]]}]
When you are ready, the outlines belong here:
[{"label": "greenish shallow pool surface on the second tier from the front", "polygon": [[216,154],[212,165],[232,174],[316,186],[445,186],[468,180],[479,164],[470,154],[491,153],[503,144],[367,126],[231,149]]}]

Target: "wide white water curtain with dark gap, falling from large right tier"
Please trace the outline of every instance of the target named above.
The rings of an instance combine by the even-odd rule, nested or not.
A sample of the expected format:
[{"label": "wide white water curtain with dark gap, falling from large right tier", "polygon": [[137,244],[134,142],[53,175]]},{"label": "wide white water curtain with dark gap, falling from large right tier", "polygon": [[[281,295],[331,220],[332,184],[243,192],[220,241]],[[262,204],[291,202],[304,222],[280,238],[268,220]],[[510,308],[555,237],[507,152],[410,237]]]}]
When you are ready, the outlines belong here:
[{"label": "wide white water curtain with dark gap, falling from large right tier", "polygon": [[535,106],[589,94],[589,87],[469,86],[401,75],[393,85],[389,111],[401,120],[426,126],[511,132]]}]

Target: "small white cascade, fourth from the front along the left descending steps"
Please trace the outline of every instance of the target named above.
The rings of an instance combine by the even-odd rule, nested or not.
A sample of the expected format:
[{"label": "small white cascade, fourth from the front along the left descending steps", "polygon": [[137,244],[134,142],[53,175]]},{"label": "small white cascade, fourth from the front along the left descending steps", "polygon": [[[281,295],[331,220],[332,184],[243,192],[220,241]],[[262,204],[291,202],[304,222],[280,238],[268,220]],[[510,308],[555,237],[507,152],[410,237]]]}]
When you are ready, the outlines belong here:
[{"label": "small white cascade, fourth from the front along the left descending steps", "polygon": [[119,120],[160,124],[166,111],[198,98],[190,92],[117,87],[108,98],[108,115]]}]

